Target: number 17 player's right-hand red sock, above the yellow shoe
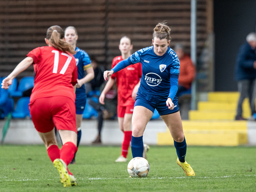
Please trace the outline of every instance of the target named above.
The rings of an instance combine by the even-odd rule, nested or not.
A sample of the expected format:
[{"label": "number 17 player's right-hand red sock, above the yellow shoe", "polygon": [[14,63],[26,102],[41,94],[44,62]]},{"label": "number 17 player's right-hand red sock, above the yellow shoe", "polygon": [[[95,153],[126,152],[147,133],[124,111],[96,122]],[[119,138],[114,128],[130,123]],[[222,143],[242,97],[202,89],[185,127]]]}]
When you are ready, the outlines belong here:
[{"label": "number 17 player's right-hand red sock, above the yellow shoe", "polygon": [[60,159],[62,159],[68,166],[68,164],[74,158],[76,151],[77,147],[75,146],[75,144],[72,142],[67,142],[60,149]]}]

